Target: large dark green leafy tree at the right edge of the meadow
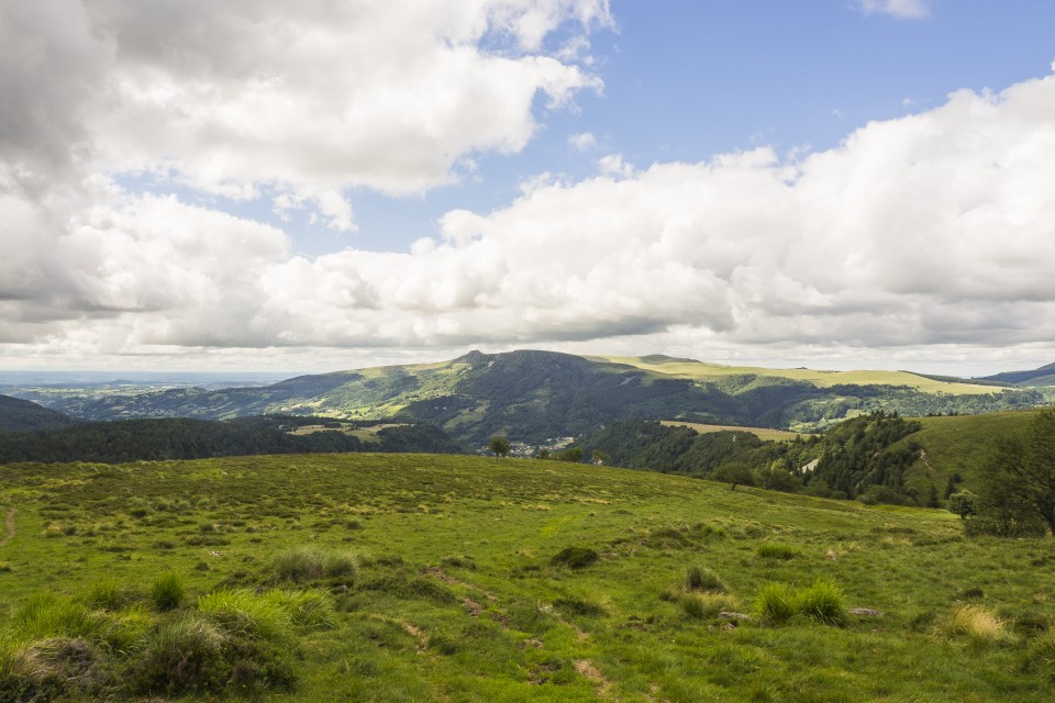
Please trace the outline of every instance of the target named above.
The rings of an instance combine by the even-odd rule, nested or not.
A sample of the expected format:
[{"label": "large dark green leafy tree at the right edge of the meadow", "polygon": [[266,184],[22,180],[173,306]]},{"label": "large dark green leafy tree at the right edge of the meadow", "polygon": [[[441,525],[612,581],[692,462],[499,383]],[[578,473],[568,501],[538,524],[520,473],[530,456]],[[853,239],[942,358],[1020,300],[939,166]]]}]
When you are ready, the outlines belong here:
[{"label": "large dark green leafy tree at the right edge of the meadow", "polygon": [[1055,410],[1043,410],[1022,434],[1000,437],[981,481],[978,516],[986,532],[1055,534]]}]

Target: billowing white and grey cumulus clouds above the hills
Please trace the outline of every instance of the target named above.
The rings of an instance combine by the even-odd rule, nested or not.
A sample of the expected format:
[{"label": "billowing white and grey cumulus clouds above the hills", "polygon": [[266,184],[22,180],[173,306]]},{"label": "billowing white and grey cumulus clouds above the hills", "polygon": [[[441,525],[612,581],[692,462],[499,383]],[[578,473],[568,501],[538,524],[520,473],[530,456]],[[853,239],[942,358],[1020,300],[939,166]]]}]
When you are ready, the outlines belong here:
[{"label": "billowing white and grey cumulus clouds above the hills", "polygon": [[[62,43],[68,54],[0,42],[3,57],[19,59],[0,62],[3,104],[14,105],[0,112],[8,358],[606,339],[690,356],[941,345],[995,357],[1035,355],[1055,339],[1055,76],[956,92],[790,159],[759,147],[634,168],[609,155],[595,177],[543,175],[492,212],[453,210],[410,252],[349,247],[311,258],[293,256],[278,228],[186,198],[132,193],[106,174],[165,168],[216,187],[266,185],[279,212],[307,209],[352,230],[346,187],[411,191],[449,178],[467,152],[520,148],[534,129],[532,96],[567,100],[592,80],[523,52],[541,46],[554,22],[599,22],[607,7],[466,0],[442,3],[462,11],[448,15],[423,2],[431,24],[404,23],[409,36],[397,37],[367,2],[309,1],[296,12],[277,0],[145,4],[155,12],[89,0],[88,12],[53,14],[65,22],[55,26],[32,22],[34,11],[60,7],[47,0],[0,10],[18,27],[89,36]],[[188,8],[229,21],[200,34],[185,26]],[[264,8],[284,22],[256,22]],[[359,20],[380,22],[376,36]],[[24,34],[13,26],[0,24],[0,38]],[[314,38],[301,46],[304,32]],[[511,53],[480,48],[493,32]],[[276,58],[262,72],[262,45],[288,70]],[[386,82],[331,67],[342,52],[381,56],[412,77]],[[326,66],[318,77],[304,68],[316,65]],[[458,78],[420,80],[419,67]],[[36,70],[56,71],[59,87],[33,94],[23,78]],[[93,92],[100,75],[120,77],[102,93],[116,101],[109,111]],[[433,80],[455,89],[440,96]],[[57,112],[37,123],[8,97]],[[254,112],[268,114],[253,122]],[[367,124],[379,130],[369,138],[357,131]]]}]

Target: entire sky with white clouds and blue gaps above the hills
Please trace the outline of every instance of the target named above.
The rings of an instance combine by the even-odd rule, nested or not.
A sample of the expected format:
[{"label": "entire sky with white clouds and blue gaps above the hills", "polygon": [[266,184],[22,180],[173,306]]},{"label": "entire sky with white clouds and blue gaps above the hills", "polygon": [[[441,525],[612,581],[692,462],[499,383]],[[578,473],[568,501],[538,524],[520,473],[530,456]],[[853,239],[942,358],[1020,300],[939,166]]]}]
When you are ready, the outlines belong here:
[{"label": "entire sky with white clouds and blue gaps above the hills", "polygon": [[0,370],[1055,361],[1055,3],[0,2]]}]

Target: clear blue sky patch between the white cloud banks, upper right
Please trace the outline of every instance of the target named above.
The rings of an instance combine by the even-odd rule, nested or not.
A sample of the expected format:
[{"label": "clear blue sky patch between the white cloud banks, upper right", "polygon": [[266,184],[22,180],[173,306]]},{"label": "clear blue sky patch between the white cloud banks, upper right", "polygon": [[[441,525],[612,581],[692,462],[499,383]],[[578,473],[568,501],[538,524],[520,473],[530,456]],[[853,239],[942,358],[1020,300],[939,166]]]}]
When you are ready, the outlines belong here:
[{"label": "clear blue sky patch between the white cloud banks, upper right", "polygon": [[[617,0],[615,26],[591,38],[602,94],[579,94],[577,111],[536,108],[537,137],[520,154],[481,158],[482,182],[396,201],[357,193],[360,230],[351,241],[406,249],[432,234],[444,212],[501,208],[537,174],[589,177],[600,153],[647,166],[759,144],[831,148],[870,120],[936,107],[962,88],[999,90],[1044,75],[1055,59],[1053,3],[925,7],[926,16],[903,18],[866,14],[846,0]],[[568,137],[584,132],[597,148],[569,146]],[[306,226],[297,242],[299,250],[321,254],[348,239]]]}]

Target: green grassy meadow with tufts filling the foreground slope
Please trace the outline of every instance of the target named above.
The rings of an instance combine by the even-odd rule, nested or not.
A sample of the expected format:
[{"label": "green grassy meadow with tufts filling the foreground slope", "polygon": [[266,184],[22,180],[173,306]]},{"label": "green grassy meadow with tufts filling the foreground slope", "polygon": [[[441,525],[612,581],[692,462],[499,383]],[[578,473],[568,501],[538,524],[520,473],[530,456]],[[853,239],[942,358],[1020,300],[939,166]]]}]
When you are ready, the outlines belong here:
[{"label": "green grassy meadow with tufts filling the foreground slope", "polygon": [[0,511],[0,701],[1055,694],[1052,540],[942,511],[426,455],[9,465]]}]

